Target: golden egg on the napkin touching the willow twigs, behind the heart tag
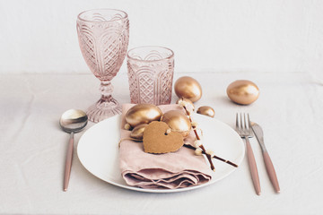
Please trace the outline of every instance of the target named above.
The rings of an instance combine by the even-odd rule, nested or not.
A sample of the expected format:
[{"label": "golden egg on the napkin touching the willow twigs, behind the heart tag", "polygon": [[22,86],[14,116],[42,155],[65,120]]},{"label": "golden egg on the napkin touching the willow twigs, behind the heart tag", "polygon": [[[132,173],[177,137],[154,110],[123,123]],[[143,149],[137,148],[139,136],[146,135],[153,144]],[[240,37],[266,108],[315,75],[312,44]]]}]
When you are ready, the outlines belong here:
[{"label": "golden egg on the napkin touching the willow twigs, behind the heart tag", "polygon": [[171,131],[179,132],[183,137],[188,136],[191,129],[191,123],[189,122],[188,116],[179,110],[170,110],[164,113],[161,121],[169,125]]}]

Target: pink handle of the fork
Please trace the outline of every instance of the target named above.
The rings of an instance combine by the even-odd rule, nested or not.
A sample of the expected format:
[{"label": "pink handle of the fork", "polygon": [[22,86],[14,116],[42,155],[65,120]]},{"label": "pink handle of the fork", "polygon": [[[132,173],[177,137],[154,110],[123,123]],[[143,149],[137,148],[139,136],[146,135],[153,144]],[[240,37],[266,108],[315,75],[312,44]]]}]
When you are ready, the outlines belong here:
[{"label": "pink handle of the fork", "polygon": [[259,182],[259,176],[258,176],[258,168],[257,168],[254,153],[251,149],[249,137],[246,137],[246,146],[247,146],[247,156],[248,156],[248,163],[249,163],[252,182],[255,187],[256,193],[260,195],[261,188],[260,188],[260,182]]}]

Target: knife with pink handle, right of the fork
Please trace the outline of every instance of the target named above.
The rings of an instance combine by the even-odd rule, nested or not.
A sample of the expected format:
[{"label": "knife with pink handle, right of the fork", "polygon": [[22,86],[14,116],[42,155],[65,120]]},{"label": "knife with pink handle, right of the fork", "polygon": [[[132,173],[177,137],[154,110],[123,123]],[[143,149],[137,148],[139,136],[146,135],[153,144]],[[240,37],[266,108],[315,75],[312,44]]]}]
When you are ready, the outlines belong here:
[{"label": "knife with pink handle, right of the fork", "polygon": [[265,166],[266,166],[266,172],[269,176],[269,179],[272,183],[272,185],[275,188],[275,192],[276,193],[280,193],[280,187],[278,184],[278,179],[277,176],[275,174],[275,168],[273,165],[273,162],[271,161],[268,151],[266,150],[266,146],[265,146],[265,142],[264,142],[264,133],[262,128],[260,127],[260,125],[258,125],[257,123],[251,123],[251,127],[252,127],[252,131],[255,133],[255,136],[259,142],[259,145],[261,147],[263,156],[264,156],[264,161],[265,161]]}]

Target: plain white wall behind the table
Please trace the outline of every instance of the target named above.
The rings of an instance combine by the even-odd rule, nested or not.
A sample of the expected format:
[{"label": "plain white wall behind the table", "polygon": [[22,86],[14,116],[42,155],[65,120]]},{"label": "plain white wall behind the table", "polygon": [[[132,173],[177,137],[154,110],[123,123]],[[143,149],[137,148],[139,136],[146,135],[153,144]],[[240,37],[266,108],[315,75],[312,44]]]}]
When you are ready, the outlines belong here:
[{"label": "plain white wall behind the table", "polygon": [[177,73],[323,70],[323,1],[0,0],[0,73],[90,73],[75,20],[94,8],[126,11],[129,47],[170,47]]}]

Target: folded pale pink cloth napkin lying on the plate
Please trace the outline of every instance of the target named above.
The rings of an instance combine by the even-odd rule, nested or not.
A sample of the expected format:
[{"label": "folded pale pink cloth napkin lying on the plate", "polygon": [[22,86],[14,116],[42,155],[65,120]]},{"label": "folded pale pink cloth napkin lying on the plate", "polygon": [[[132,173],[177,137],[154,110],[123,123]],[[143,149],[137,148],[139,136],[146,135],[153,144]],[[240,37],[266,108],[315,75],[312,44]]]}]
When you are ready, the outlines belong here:
[{"label": "folded pale pink cloth napkin lying on the plate", "polygon": [[[129,138],[130,131],[124,129],[125,115],[132,104],[122,107],[121,139]],[[162,112],[182,108],[178,105],[160,106]],[[194,142],[194,134],[185,142]],[[204,156],[196,156],[194,150],[181,147],[178,151],[166,154],[144,152],[143,142],[125,140],[119,149],[121,175],[127,185],[145,189],[177,189],[202,185],[211,180],[212,171]]]}]

